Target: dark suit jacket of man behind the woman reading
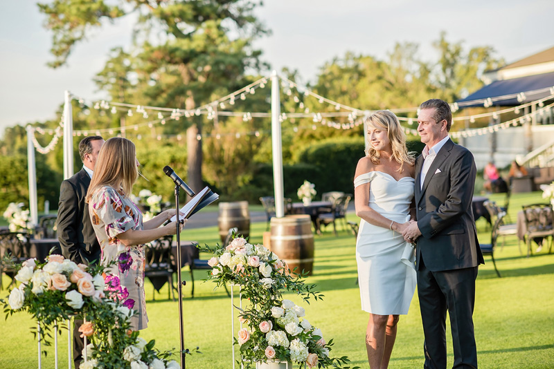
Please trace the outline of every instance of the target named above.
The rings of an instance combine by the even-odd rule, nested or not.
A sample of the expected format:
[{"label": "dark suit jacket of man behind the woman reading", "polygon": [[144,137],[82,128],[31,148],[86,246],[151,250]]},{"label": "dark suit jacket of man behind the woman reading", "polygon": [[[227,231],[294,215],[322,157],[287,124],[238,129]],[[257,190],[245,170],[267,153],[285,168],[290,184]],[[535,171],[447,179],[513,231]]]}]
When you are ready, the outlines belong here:
[{"label": "dark suit jacket of man behind the woman reading", "polygon": [[60,187],[57,207],[57,238],[64,257],[75,263],[100,261],[100,245],[89,218],[89,207],[84,202],[91,183],[84,169],[64,180]]}]

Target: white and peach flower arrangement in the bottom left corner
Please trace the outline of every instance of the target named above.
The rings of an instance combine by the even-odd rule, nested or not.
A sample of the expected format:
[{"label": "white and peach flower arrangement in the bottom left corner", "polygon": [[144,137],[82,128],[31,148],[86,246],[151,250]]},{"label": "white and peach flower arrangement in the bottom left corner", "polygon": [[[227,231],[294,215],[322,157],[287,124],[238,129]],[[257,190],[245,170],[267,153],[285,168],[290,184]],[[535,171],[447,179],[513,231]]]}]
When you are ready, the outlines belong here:
[{"label": "white and peach flower arrangement in the bottom left corner", "polygon": [[[51,328],[72,316],[86,321],[79,328],[89,344],[83,350],[87,358],[81,369],[178,369],[169,360],[171,352],[154,349],[154,340],[146,342],[139,332],[128,333],[134,314],[120,303],[125,287],[118,281],[105,281],[104,267],[76,265],[61,255],[50,255],[46,263],[29,259],[20,265],[15,279],[19,286],[10,292],[4,304],[6,317],[27,311],[41,325],[39,339],[48,346]],[[35,328],[36,331],[36,328]]]}]

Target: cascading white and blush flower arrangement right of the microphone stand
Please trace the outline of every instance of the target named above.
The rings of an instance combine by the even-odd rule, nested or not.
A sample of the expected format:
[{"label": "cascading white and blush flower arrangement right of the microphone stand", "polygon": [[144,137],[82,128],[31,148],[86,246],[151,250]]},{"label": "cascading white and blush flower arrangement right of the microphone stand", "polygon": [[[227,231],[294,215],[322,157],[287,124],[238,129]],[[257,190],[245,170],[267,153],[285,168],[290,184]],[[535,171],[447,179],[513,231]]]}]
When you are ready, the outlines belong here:
[{"label": "cascading white and blush flower arrangement right of the microphone stand", "polygon": [[209,279],[218,286],[242,286],[241,298],[249,308],[240,309],[239,320],[246,325],[238,331],[235,344],[240,346],[240,362],[247,368],[260,361],[283,361],[304,364],[308,368],[332,366],[349,368],[347,357],[329,356],[332,339],[323,339],[321,330],[305,318],[305,310],[283,299],[282,291],[295,292],[303,301],[322,299],[315,285],[306,285],[304,275],[292,273],[286,263],[263,245],[251,245],[244,238],[234,238],[226,247],[200,247],[214,256]]}]

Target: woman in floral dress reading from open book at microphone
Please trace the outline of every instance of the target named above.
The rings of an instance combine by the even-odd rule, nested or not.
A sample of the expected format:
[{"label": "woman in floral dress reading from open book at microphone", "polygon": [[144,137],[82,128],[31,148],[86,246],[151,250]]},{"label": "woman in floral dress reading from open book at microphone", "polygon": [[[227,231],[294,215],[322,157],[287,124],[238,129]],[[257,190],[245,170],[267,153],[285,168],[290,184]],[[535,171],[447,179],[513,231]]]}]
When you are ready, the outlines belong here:
[{"label": "woman in floral dress reading from open book at microphone", "polygon": [[[144,294],[144,244],[177,233],[175,222],[160,227],[175,215],[175,209],[161,212],[148,222],[129,197],[139,176],[134,144],[125,138],[110,138],[98,154],[91,185],[87,193],[89,214],[100,243],[100,263],[105,269],[107,289],[133,309],[133,330],[148,327]],[[183,223],[179,225],[181,231]]]}]

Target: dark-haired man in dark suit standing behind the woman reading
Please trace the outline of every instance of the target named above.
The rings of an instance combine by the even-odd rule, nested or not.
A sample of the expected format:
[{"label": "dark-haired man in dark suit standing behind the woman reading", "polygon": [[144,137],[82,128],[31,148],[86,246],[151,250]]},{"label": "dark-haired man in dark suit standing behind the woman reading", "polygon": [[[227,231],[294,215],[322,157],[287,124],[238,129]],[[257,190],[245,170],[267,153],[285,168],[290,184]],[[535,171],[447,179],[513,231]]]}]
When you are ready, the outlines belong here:
[{"label": "dark-haired man in dark suit standing behind the woman reading", "polygon": [[[98,152],[104,144],[100,136],[88,136],[79,142],[82,169],[60,186],[60,202],[57,207],[57,238],[65,258],[80,264],[91,265],[100,261],[100,244],[89,218],[88,205],[84,202],[91,183]],[[82,320],[73,324],[73,361],[79,368],[84,341],[78,332]]]}]

